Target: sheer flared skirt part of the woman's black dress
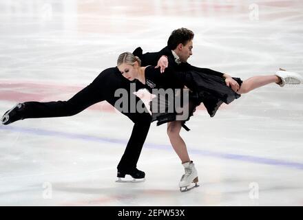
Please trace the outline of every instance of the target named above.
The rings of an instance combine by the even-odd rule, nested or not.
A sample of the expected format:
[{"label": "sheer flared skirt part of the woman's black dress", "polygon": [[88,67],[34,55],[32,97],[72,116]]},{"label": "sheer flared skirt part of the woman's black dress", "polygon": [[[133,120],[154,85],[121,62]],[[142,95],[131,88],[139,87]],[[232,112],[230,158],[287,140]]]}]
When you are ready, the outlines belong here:
[{"label": "sheer flared skirt part of the woman's black dress", "polygon": [[[214,76],[211,74],[204,74],[202,72],[176,72],[176,77],[178,80],[182,80],[184,85],[190,89],[189,92],[189,104],[184,107],[187,107],[189,114],[187,119],[182,120],[182,126],[187,131],[189,129],[185,126],[185,122],[189,120],[189,118],[194,115],[194,111],[196,111],[196,107],[203,102],[207,112],[211,117],[216,115],[221,104],[224,102],[225,104],[231,103],[233,100],[240,98],[240,95],[235,91],[228,87],[225,83],[225,79],[220,76]],[[237,83],[242,85],[242,80],[240,78],[233,78],[237,81]],[[151,117],[152,122],[157,121],[157,125],[164,124],[167,122],[172,122],[176,120],[176,116],[178,113],[176,111],[161,111],[161,113],[153,112],[153,105],[156,102],[165,102],[166,110],[169,109],[169,105],[171,102],[167,102],[167,100],[163,101],[163,98],[153,98],[151,100]],[[159,104],[159,103],[158,103]]]}]

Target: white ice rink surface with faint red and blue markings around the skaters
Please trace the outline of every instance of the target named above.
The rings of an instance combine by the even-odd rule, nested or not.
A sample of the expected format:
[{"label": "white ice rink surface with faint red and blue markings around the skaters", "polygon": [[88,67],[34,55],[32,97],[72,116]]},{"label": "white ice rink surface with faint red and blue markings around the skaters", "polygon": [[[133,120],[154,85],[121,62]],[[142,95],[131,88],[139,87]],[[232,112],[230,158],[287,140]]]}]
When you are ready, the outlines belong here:
[{"label": "white ice rink surface with faint red and blue markings around the skaters", "polygon": [[[278,0],[0,0],[0,113],[67,100],[118,54],[156,52],[181,27],[195,32],[192,65],[242,80],[303,74],[302,12],[302,1]],[[115,182],[132,122],[107,103],[0,125],[0,205],[302,206],[302,109],[303,85],[267,85],[214,118],[200,107],[182,131],[199,175],[189,192],[166,125],[154,123],[138,162],[146,181]]]}]

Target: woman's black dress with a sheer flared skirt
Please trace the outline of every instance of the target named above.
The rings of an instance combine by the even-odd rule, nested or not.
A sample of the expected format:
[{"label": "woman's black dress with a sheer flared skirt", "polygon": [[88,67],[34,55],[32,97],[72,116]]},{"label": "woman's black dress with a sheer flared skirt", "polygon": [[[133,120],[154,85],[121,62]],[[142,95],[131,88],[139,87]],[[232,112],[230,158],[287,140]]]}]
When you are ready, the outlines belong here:
[{"label": "woman's black dress with a sheer flared skirt", "polygon": [[[187,72],[174,72],[168,68],[161,74],[160,68],[155,69],[153,66],[149,66],[145,69],[145,88],[151,93],[153,93],[153,88],[183,89],[184,86],[189,88],[189,104],[184,106],[189,108],[189,115],[187,119],[182,120],[182,126],[187,131],[189,131],[189,129],[185,126],[185,122],[189,120],[196,110],[196,107],[200,105],[201,102],[205,105],[209,115],[213,117],[216,115],[216,111],[218,111],[223,102],[229,104],[233,100],[240,98],[239,94],[226,85],[224,78],[220,75],[205,74],[201,70],[202,69],[195,69]],[[242,85],[242,80],[240,78],[233,79],[236,80],[240,86]],[[153,122],[158,121],[157,125],[160,125],[165,122],[176,120],[176,116],[178,115],[176,111],[173,113],[163,111],[154,113],[152,102],[163,102],[163,98],[157,96],[151,100],[151,117]],[[167,105],[166,109],[169,109],[169,104],[172,103],[165,100],[165,104]]]}]

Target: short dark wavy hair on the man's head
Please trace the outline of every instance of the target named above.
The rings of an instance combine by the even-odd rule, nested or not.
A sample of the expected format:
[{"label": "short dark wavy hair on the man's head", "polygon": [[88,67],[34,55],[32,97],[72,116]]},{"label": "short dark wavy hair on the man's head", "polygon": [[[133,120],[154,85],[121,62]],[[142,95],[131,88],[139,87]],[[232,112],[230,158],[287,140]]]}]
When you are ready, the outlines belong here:
[{"label": "short dark wavy hair on the man's head", "polygon": [[179,28],[171,32],[171,36],[167,41],[167,47],[170,50],[175,50],[179,43],[185,45],[187,41],[194,39],[194,32],[188,30],[187,28]]}]

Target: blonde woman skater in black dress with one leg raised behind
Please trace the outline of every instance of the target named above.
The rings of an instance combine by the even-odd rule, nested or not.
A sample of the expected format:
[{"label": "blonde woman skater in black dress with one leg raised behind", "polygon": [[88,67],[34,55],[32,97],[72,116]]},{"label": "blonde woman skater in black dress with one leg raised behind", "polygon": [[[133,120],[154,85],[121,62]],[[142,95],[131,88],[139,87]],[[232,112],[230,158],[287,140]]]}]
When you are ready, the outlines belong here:
[{"label": "blonde woman skater in black dress with one leg raised behind", "polygon": [[[192,42],[190,42],[192,43]],[[231,78],[227,74],[209,74],[198,70],[190,70],[187,72],[171,72],[170,67],[165,69],[164,74],[161,74],[160,68],[154,66],[140,67],[140,58],[129,52],[125,52],[118,57],[117,65],[121,74],[128,80],[138,80],[146,89],[152,91],[155,87],[167,88],[182,88],[184,86],[191,90],[189,98],[189,117],[193,115],[194,109],[203,102],[211,117],[216,114],[220,105],[224,102],[229,104],[233,100],[240,98],[242,94],[247,94],[249,91],[268,85],[277,83],[281,87],[285,84],[300,84],[303,82],[300,74],[278,71],[271,76],[253,76],[242,81],[240,78]],[[222,77],[224,76],[224,77]],[[228,82],[236,81],[238,86],[231,89]],[[154,117],[154,115],[156,115]],[[184,140],[180,137],[180,129],[186,120],[180,121],[175,118],[165,118],[163,115],[171,115],[171,113],[163,113],[162,115],[152,114],[152,121],[158,120],[158,124],[162,124],[161,120],[167,124],[167,134],[174,150],[181,159],[182,165],[185,167],[185,175],[182,175],[179,186],[180,190],[188,190],[188,186],[194,182],[198,186],[198,172],[194,167],[194,163],[189,159],[187,148]],[[176,114],[175,114],[176,115]],[[187,120],[189,120],[189,117]],[[185,189],[183,189],[185,188]]]}]

